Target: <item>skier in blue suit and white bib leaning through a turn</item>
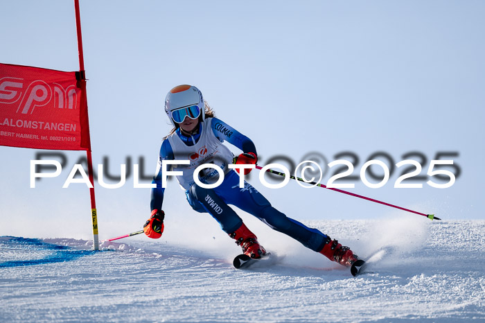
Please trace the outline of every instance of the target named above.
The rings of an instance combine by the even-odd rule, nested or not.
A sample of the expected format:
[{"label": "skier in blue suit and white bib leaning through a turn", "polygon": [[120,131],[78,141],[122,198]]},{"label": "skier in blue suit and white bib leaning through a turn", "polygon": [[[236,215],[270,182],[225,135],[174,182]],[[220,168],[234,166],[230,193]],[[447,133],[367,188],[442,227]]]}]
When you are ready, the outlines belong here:
[{"label": "skier in blue suit and white bib leaning through a turn", "polygon": [[[272,229],[287,234],[331,261],[350,266],[357,260],[349,247],[342,246],[336,240],[332,241],[317,229],[308,228],[276,210],[247,182],[244,182],[243,189],[240,188],[239,175],[228,167],[233,163],[233,155],[222,143],[227,141],[243,151],[237,157],[236,164],[256,164],[256,147],[245,135],[214,117],[197,87],[179,85],[171,89],[166,96],[165,112],[175,128],[161,143],[157,175],[152,182],[157,184],[152,189],[152,214],[143,226],[147,236],[159,238],[164,232],[165,213],[161,206],[165,189],[162,188],[162,172],[167,169],[162,169],[162,161],[188,160],[190,164],[176,164],[173,168],[173,171],[182,171],[182,175],[177,175],[177,180],[186,189],[188,203],[197,212],[210,213],[220,223],[222,230],[242,247],[244,254],[261,258],[266,251],[228,204],[251,213]],[[202,164],[219,166],[224,171],[222,184],[213,189],[195,184],[193,172]],[[239,173],[239,169],[236,171]],[[241,171],[247,174],[251,169]],[[204,168],[198,177],[204,184],[213,184],[218,181],[219,173],[214,168]]]}]

